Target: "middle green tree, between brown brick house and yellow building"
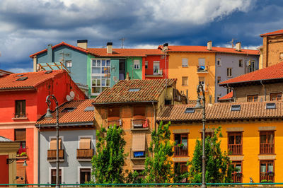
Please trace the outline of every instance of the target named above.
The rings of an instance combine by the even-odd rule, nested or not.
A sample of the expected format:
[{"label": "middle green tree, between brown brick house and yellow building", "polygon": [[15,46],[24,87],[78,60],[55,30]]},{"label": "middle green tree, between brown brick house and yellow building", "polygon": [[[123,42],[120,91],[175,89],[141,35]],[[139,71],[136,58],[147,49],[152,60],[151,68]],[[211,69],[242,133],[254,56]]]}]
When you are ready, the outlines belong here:
[{"label": "middle green tree, between brown brick house and yellow building", "polygon": [[144,164],[144,183],[171,183],[173,181],[173,143],[170,143],[171,131],[168,124],[158,125],[157,131],[151,133],[149,152],[153,157],[147,156]]}]

